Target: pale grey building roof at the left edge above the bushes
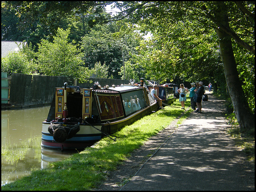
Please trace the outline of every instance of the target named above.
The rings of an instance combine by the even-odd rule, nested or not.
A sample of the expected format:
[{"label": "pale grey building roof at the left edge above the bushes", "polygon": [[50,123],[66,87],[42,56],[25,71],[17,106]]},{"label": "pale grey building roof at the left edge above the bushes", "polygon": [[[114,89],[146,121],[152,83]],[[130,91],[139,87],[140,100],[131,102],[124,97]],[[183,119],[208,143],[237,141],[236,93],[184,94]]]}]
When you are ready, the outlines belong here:
[{"label": "pale grey building roof at the left edge above the bushes", "polygon": [[16,43],[20,45],[20,48],[27,45],[27,42],[23,43],[22,41],[1,41],[1,56],[6,57],[10,52],[20,51]]}]

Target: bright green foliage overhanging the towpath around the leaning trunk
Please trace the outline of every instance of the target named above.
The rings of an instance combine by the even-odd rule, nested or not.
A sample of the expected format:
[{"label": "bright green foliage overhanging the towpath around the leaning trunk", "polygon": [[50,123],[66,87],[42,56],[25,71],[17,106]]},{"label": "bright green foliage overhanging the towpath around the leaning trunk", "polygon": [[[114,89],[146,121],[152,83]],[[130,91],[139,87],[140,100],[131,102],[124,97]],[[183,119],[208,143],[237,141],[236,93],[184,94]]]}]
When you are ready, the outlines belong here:
[{"label": "bright green foliage overhanging the towpath around the leaning trunk", "polygon": [[[239,107],[234,109],[239,117],[241,129],[244,129],[245,124],[242,121],[249,122],[245,121],[246,117],[250,120],[250,116],[254,114],[252,92],[255,80],[255,4],[252,2],[123,2],[122,6],[124,11],[117,17],[128,18],[132,24],[137,24],[142,32],[150,31],[153,34],[150,41],[140,45],[139,54],[133,58],[146,69],[146,77],[162,82],[167,81],[168,78],[175,79],[175,76],[190,82],[198,79],[204,84],[213,82],[214,90],[218,90],[221,94],[229,94],[228,89],[231,92],[237,87],[239,91],[232,91],[230,96],[233,106],[244,103],[243,110],[246,113],[241,112]],[[227,22],[223,22],[222,18]],[[222,39],[218,39],[219,33],[216,33],[220,30],[230,39],[232,38],[233,46],[230,46],[231,49],[226,52],[226,56],[232,57],[234,50],[236,61],[221,60],[218,44]],[[238,75],[225,79],[222,64],[225,70],[229,70],[225,71],[226,74],[232,70],[238,71],[242,87],[239,86],[240,82],[237,82]],[[241,90],[245,92],[247,100],[244,100],[244,93]],[[246,107],[246,101],[250,105],[250,112]],[[250,129],[253,124],[253,122],[248,123],[246,129]]]}]

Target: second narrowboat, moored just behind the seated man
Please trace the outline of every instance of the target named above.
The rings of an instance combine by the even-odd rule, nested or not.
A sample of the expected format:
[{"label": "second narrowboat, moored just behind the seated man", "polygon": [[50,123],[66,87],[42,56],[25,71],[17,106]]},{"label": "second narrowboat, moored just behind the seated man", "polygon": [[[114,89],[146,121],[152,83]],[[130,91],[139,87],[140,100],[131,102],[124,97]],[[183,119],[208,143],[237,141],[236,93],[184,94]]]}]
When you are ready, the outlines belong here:
[{"label": "second narrowboat, moored just behind the seated man", "polygon": [[[153,86],[148,85],[147,88],[149,91],[151,91]],[[157,96],[162,99],[162,102],[165,104],[172,104],[174,101],[176,101],[174,92],[175,86],[169,86],[168,84],[158,85],[156,89]]]}]

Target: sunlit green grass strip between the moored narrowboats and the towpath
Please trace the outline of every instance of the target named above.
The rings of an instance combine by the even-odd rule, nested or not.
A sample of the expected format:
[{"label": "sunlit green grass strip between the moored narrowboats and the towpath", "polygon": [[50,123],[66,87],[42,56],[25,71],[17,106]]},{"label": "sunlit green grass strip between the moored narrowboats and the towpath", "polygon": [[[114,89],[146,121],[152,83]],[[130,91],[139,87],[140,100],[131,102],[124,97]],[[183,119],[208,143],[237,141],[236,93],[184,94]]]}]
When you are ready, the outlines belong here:
[{"label": "sunlit green grass strip between the moored narrowboats and the towpath", "polygon": [[[173,106],[180,106],[178,100]],[[185,106],[189,107],[190,103],[187,101]],[[121,137],[116,141],[103,138],[94,148],[88,147],[43,170],[34,170],[30,176],[2,186],[2,190],[94,190],[104,181],[107,172],[122,165],[134,149],[184,114],[182,122],[190,112],[166,106],[116,132],[114,135]]]}]

